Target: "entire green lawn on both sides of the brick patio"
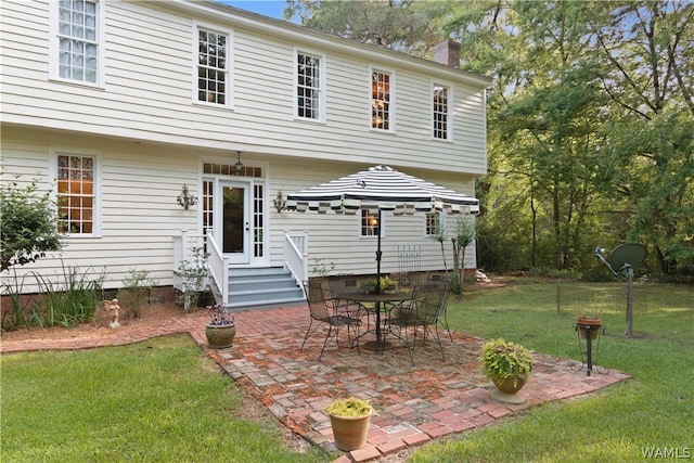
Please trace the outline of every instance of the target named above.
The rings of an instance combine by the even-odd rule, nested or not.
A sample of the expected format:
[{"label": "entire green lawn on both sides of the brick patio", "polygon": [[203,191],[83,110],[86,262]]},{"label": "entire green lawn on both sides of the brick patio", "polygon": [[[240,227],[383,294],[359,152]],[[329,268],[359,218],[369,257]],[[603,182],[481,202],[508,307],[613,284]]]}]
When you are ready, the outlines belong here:
[{"label": "entire green lawn on both sides of the brick patio", "polygon": [[[452,329],[502,336],[580,359],[570,306],[556,284],[466,292],[451,300]],[[603,297],[601,285],[577,286]],[[595,362],[632,380],[554,402],[415,450],[419,462],[632,462],[694,453],[694,287],[652,284],[634,304],[634,337],[620,309]],[[244,417],[242,391],[187,336],[87,351],[1,358],[1,451],[8,462],[327,462],[320,449],[282,445],[274,419]],[[600,369],[593,371],[600,374]],[[531,384],[529,385],[531,387]],[[663,458],[666,456],[666,458]]]}]

